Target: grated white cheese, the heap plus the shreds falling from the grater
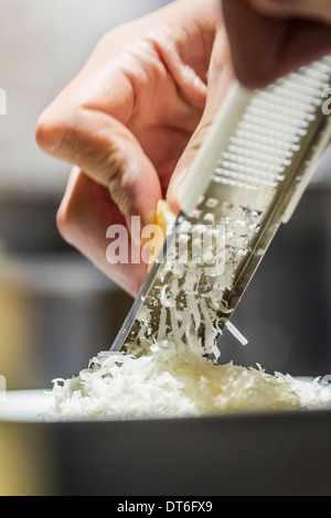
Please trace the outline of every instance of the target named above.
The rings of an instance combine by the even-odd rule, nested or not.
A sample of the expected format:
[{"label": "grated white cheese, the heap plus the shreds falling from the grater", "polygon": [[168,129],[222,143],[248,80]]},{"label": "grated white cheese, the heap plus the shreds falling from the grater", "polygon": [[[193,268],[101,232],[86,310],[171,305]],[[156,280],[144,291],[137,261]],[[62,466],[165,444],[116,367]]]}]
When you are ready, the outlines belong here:
[{"label": "grated white cheese, the heap plus the shreds falling from the grater", "polygon": [[[268,375],[259,366],[245,368],[217,363],[220,305],[226,306],[224,293],[232,290],[234,269],[248,252],[249,239],[260,218],[242,207],[224,206],[222,211],[221,223],[226,228],[225,268],[222,272],[216,268],[216,250],[212,273],[207,265],[209,289],[201,293],[196,288],[205,283],[205,267],[181,263],[178,249],[170,249],[150,306],[138,315],[137,339],[126,354],[100,353],[78,377],[55,380],[54,403],[44,419],[184,418],[331,408],[331,388],[319,380],[303,382],[289,375]],[[190,222],[184,222],[184,231],[179,237],[188,236],[192,228]],[[206,255],[210,252],[206,249]],[[159,307],[158,300],[159,327],[151,335],[150,319],[153,304]],[[227,324],[227,331],[246,344],[233,324]]]}]

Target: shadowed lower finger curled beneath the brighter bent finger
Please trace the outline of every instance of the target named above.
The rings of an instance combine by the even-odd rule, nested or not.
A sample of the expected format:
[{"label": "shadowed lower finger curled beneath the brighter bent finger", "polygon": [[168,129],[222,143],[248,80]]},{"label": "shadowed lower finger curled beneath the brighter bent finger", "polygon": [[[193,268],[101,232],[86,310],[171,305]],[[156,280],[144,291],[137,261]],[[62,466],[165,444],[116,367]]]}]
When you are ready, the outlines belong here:
[{"label": "shadowed lower finger curled beneath the brighter bent finger", "polygon": [[[140,247],[128,240],[128,258],[136,262],[110,263],[107,258],[107,230],[110,225],[126,228],[125,218],[113,203],[109,192],[74,168],[57,213],[57,226],[63,238],[77,248],[100,271],[132,296],[137,296],[147,276],[147,265],[140,258]],[[129,263],[130,262],[130,263]]]}]

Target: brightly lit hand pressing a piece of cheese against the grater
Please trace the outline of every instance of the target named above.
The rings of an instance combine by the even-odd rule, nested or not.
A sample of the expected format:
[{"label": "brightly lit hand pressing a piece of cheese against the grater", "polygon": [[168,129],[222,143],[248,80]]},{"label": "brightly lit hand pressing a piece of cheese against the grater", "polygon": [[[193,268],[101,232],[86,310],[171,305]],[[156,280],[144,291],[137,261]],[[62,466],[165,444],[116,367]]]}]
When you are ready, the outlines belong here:
[{"label": "brightly lit hand pressing a piece of cheese against the grater", "polygon": [[[109,32],[41,116],[39,145],[74,169],[57,215],[63,237],[137,295],[147,265],[110,265],[107,228],[156,222],[233,78],[220,0],[178,0]],[[137,257],[140,242],[130,240]]]}]

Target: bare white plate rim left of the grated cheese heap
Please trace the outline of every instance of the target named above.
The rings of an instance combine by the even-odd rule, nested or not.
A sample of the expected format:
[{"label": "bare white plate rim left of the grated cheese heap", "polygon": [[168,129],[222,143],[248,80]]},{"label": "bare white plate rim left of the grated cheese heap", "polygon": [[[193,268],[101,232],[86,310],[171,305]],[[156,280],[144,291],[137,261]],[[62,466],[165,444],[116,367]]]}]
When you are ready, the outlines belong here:
[{"label": "bare white plate rim left of the grated cheese heap", "polygon": [[51,390],[8,391],[0,399],[0,422],[36,422],[53,402]]}]

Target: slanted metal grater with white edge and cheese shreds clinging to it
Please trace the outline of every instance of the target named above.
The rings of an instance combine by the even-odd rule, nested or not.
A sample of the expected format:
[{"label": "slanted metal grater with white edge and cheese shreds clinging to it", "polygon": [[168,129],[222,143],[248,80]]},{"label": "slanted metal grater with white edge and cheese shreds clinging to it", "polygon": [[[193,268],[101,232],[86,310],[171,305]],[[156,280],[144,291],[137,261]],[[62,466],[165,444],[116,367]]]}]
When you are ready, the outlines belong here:
[{"label": "slanted metal grater with white edge and cheese shreds clinging to it", "polygon": [[[185,343],[197,335],[206,354],[218,356],[218,334],[231,328],[269,244],[329,144],[331,117],[322,104],[330,85],[325,57],[265,90],[231,88],[182,185],[175,227],[111,352],[140,355],[154,342]],[[207,263],[192,262],[196,229],[212,237]]]}]

